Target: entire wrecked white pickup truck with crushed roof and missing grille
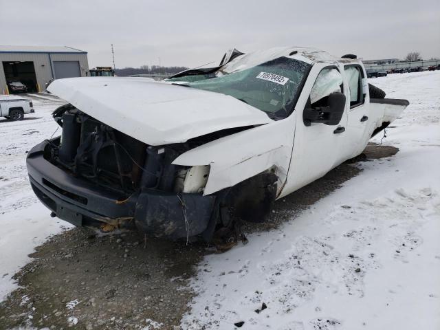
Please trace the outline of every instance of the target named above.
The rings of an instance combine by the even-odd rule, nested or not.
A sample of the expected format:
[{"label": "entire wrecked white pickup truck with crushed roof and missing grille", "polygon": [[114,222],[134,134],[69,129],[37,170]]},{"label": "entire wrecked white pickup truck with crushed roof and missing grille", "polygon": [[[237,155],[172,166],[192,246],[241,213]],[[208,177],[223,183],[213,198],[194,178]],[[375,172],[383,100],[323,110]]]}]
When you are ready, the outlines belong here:
[{"label": "entire wrecked white pickup truck with crushed roof and missing grille", "polygon": [[[28,154],[30,183],[75,225],[212,239],[364,150],[407,100],[370,87],[355,56],[243,54],[162,82],[67,78],[49,90],[61,137]],[[373,97],[374,96],[374,97]]]}]

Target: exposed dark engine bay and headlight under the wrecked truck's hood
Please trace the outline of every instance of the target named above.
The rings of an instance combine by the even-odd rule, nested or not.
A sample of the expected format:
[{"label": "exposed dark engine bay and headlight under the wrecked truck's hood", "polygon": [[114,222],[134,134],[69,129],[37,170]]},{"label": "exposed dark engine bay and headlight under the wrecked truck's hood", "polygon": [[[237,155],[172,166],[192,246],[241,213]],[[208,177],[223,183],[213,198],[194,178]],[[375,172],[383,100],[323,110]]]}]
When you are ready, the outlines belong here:
[{"label": "exposed dark engine bay and headlight under the wrecked truck's hood", "polygon": [[[131,195],[135,190],[152,188],[166,192],[203,192],[209,166],[171,164],[182,153],[244,131],[247,127],[225,129],[166,146],[148,146],[67,104],[54,111],[63,134],[52,140],[45,159],[84,177],[102,188]],[[197,176],[197,183],[186,179]]]}]

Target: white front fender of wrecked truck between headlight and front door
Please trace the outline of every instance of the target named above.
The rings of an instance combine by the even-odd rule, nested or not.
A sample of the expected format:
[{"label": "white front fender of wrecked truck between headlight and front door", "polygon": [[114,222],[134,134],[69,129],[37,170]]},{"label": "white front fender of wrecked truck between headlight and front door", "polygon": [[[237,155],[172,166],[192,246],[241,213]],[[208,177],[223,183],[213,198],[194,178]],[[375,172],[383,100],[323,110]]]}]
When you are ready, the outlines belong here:
[{"label": "white front fender of wrecked truck between headlight and front door", "polygon": [[232,187],[265,170],[278,177],[277,196],[289,170],[296,117],[271,122],[203,144],[177,157],[173,164],[210,166],[203,195]]}]

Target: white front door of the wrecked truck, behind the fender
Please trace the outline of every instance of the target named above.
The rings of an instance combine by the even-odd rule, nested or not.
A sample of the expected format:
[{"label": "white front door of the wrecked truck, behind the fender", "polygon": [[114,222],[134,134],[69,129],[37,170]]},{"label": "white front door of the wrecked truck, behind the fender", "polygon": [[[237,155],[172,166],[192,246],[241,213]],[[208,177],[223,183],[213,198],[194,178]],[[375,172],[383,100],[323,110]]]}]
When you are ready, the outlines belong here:
[{"label": "white front door of the wrecked truck, behind the fender", "polygon": [[[343,148],[346,139],[349,91],[345,87],[342,70],[342,65],[338,63],[316,63],[311,68],[294,111],[295,141],[283,195],[322,177],[345,160]],[[311,122],[310,126],[306,126],[303,120],[305,107],[324,106],[329,94],[335,91],[344,93],[347,98],[340,122],[336,125]]]}]

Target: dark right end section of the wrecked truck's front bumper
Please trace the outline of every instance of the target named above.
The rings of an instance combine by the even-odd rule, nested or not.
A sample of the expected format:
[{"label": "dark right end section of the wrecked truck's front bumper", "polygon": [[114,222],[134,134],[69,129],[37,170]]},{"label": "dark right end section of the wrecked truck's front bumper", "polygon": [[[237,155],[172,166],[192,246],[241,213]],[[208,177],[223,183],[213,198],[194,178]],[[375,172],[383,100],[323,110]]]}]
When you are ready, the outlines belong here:
[{"label": "dark right end section of the wrecked truck's front bumper", "polygon": [[137,228],[155,237],[186,239],[206,230],[214,196],[144,190],[136,203]]}]

